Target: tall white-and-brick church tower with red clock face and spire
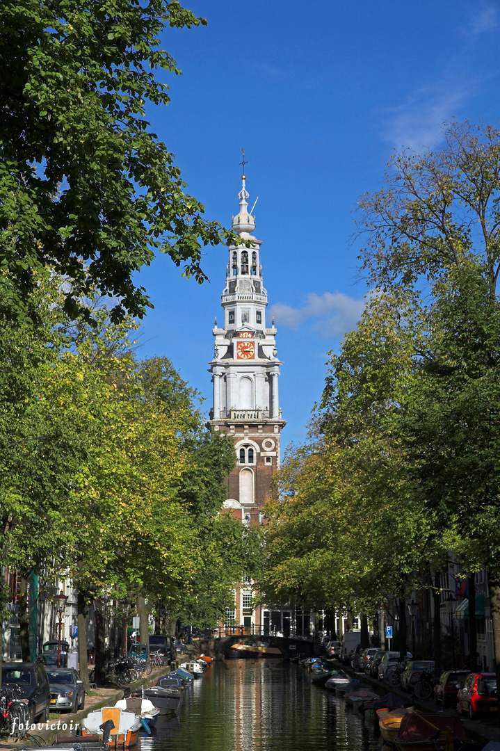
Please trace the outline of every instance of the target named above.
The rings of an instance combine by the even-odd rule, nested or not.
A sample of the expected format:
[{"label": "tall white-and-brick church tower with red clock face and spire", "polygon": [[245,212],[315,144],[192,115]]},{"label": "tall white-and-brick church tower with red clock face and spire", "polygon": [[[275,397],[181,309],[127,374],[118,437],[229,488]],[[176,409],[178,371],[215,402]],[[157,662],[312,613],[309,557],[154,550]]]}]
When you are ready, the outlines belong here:
[{"label": "tall white-and-brick church tower with red clock face and spire", "polygon": [[[244,163],[243,163],[244,166]],[[261,240],[255,216],[248,213],[242,175],[239,213],[233,231],[245,244],[229,246],[229,263],[221,305],[224,322],[212,331],[215,351],[209,363],[213,408],[209,425],[233,437],[237,464],[227,478],[227,501],[242,523],[256,524],[279,466],[280,436],[285,421],[279,408],[276,327],[266,323],[267,290],[260,260]],[[254,204],[255,205],[255,204]]]}]

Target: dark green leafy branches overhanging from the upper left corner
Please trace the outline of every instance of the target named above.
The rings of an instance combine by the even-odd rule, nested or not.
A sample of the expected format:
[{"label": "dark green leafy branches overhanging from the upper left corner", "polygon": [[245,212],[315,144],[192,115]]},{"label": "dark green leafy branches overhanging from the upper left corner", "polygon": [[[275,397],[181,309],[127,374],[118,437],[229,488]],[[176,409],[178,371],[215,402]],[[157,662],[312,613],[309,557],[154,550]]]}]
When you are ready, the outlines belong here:
[{"label": "dark green leafy branches overhanging from the upper left corner", "polygon": [[150,303],[132,277],[155,249],[206,278],[201,249],[226,234],[184,193],[145,117],[147,104],[169,101],[155,71],[180,72],[158,35],[205,23],[178,0],[2,3],[0,298],[9,316],[26,315],[38,277],[53,273],[66,279],[71,317],[90,317],[82,300],[95,289],[118,298],[113,320],[142,316]]}]

